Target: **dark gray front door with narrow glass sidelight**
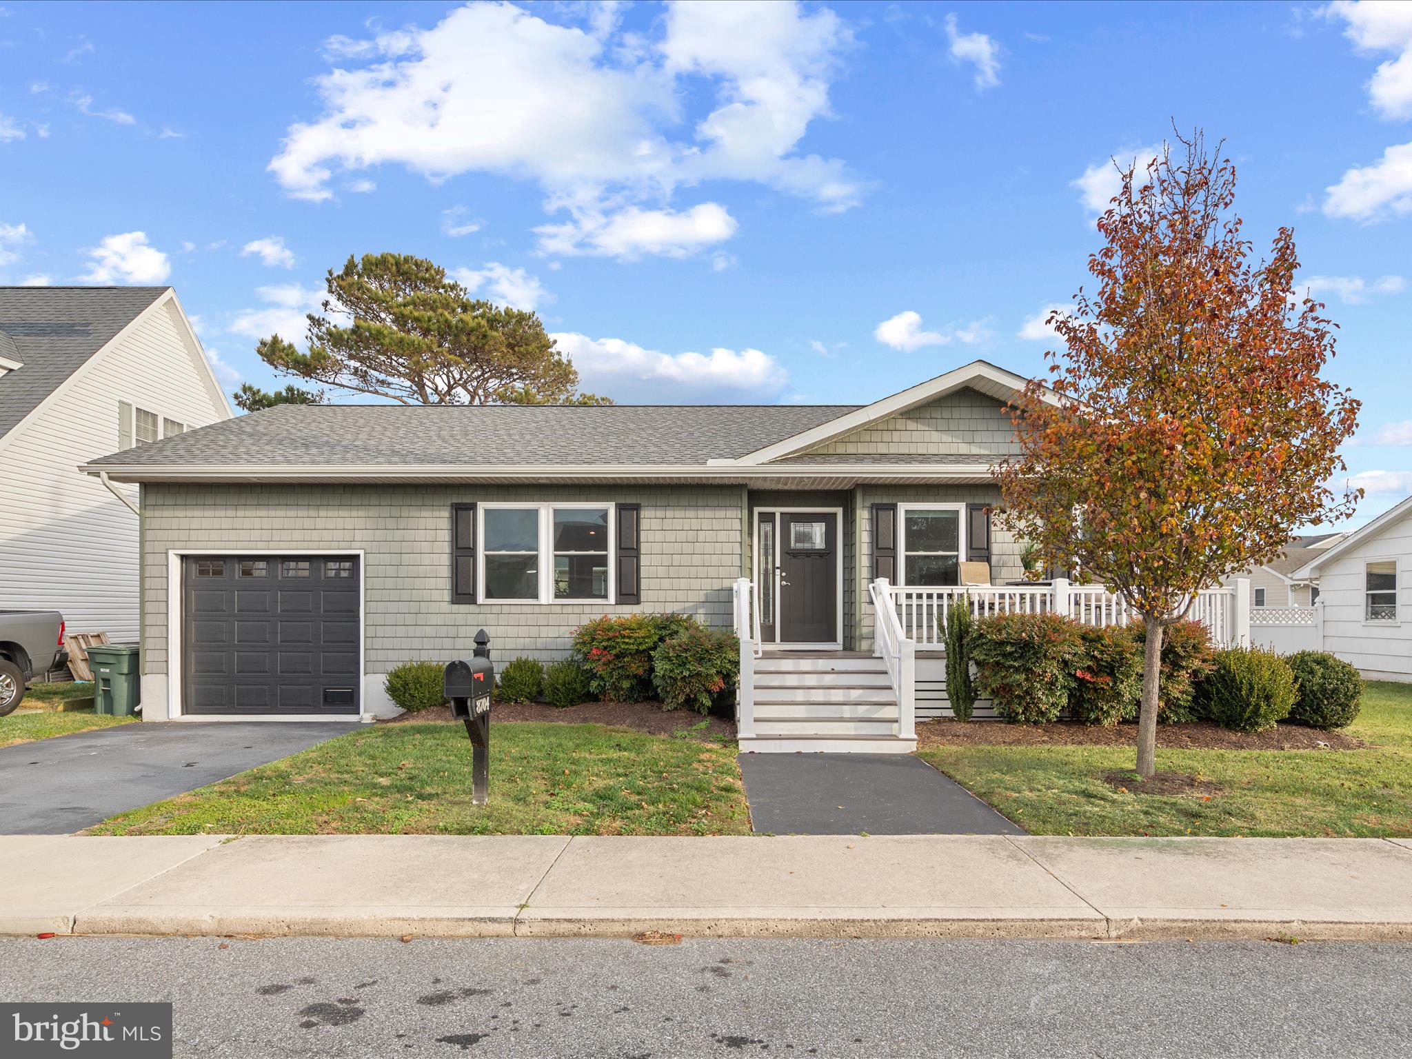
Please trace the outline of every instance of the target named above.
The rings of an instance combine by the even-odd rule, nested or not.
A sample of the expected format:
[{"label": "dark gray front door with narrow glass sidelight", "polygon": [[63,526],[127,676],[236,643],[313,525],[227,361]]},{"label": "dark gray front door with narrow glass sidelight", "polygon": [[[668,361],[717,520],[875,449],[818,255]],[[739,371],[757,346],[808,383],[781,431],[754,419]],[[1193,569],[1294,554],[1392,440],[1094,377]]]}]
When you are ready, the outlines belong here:
[{"label": "dark gray front door with narrow glass sidelight", "polygon": [[767,644],[839,641],[839,515],[760,511],[760,634]]}]

